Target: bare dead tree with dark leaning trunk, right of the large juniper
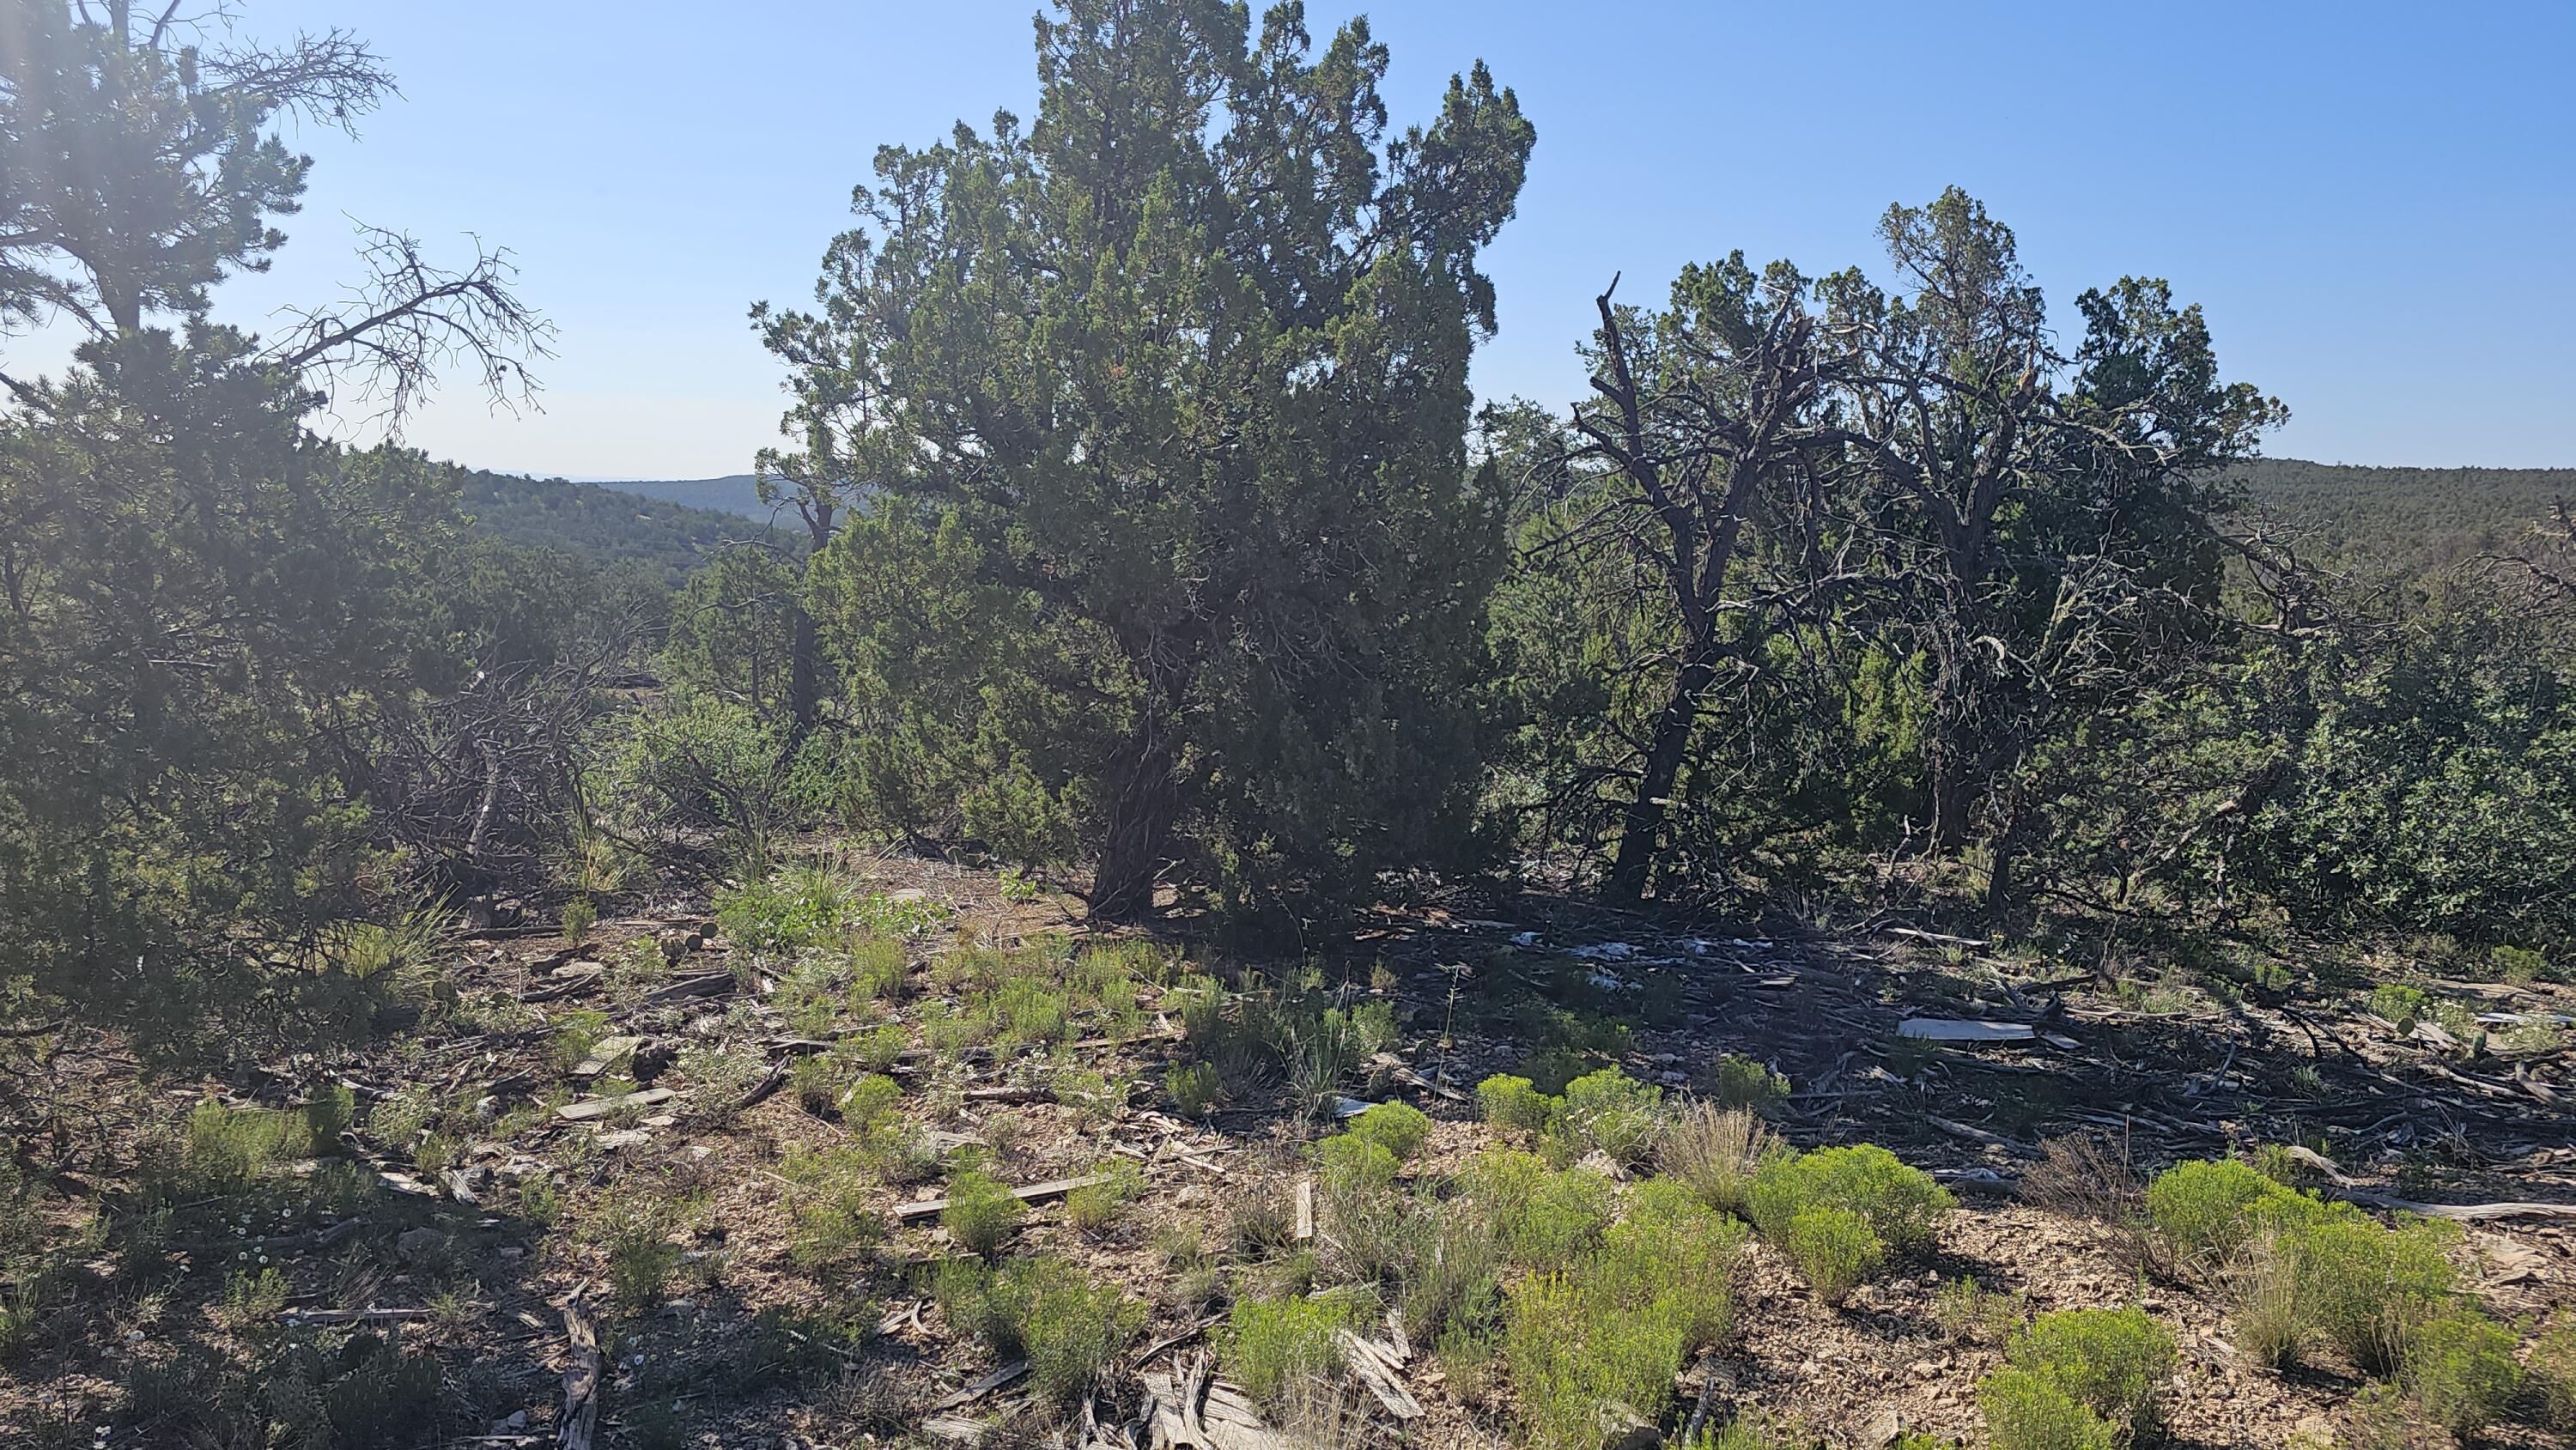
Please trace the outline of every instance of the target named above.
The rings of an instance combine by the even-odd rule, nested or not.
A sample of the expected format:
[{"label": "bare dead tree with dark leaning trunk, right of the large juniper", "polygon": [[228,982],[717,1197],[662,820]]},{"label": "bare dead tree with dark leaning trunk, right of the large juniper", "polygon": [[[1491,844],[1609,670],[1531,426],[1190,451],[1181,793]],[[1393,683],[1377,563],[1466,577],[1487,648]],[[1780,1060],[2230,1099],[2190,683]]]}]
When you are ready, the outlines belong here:
[{"label": "bare dead tree with dark leaning trunk, right of the large juniper", "polygon": [[1731,569],[1757,497],[1777,487],[1816,446],[1816,319],[1806,281],[1788,265],[1754,276],[1741,252],[1713,268],[1687,268],[1672,309],[1641,317],[1597,299],[1592,389],[1574,410],[1577,464],[1607,466],[1620,482],[1610,507],[1587,520],[1664,579],[1674,641],[1672,680],[1654,713],[1620,814],[1607,894],[1646,894],[1662,847],[1674,783],[1690,737],[1734,639],[1721,628]]}]

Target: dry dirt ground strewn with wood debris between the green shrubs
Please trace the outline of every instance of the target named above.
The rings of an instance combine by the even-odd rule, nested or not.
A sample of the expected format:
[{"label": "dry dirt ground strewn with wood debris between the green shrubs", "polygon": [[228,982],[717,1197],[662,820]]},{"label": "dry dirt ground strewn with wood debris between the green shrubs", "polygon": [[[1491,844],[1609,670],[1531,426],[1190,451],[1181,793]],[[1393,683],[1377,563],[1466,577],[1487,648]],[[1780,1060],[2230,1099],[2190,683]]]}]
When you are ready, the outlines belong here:
[{"label": "dry dirt ground strewn with wood debris between the green shrubs", "polygon": [[[917,971],[958,940],[1077,930],[1072,907],[1015,899],[989,873],[909,858],[866,858],[853,868],[876,891],[920,894],[948,909],[951,927],[914,943]],[[307,1321],[317,1311],[340,1313],[430,1350],[451,1409],[438,1442],[554,1442],[564,1378],[580,1355],[567,1324],[605,1321],[598,1306],[608,1265],[598,1241],[549,1231],[515,1208],[510,1185],[541,1172],[564,1182],[567,1221],[621,1198],[693,1203],[667,1298],[611,1329],[592,1396],[600,1445],[822,1450],[1084,1437],[1118,1445],[1141,1375],[1185,1362],[1218,1324],[1206,1298],[1175,1283],[1175,1239],[1218,1241],[1244,1200],[1293,1195],[1301,1149],[1319,1128],[1291,1118],[1278,1084],[1260,1071],[1236,1074],[1213,1115],[1177,1115],[1157,1087],[1180,1053],[1177,1025],[1154,999],[1144,1002],[1151,1030],[1141,1038],[1077,1043],[1059,1056],[1056,1066],[1074,1061],[1126,1084],[1123,1105],[1105,1113],[1051,1100],[1025,1061],[966,1053],[958,1064],[914,1061],[896,1071],[940,1141],[989,1154],[1005,1182],[1077,1177],[1110,1154],[1144,1174],[1144,1195],[1110,1229],[1074,1231],[1059,1200],[1038,1200],[1020,1236],[1023,1247],[1074,1257],[1151,1306],[1136,1347],[1095,1396],[1090,1424],[1077,1417],[1069,1432],[1012,1386],[971,1393],[994,1365],[943,1321],[922,1288],[925,1265],[958,1254],[935,1216],[902,1221],[855,1272],[809,1272],[788,1257],[801,1187],[781,1172],[783,1162],[793,1146],[829,1146],[848,1133],[778,1089],[773,1079],[811,1043],[762,1007],[770,986],[762,974],[729,971],[734,948],[708,937],[708,927],[706,901],[670,899],[605,922],[580,948],[536,930],[461,940],[451,968],[459,997],[507,997],[515,1028],[433,1020],[412,1038],[343,1061],[281,1061],[155,1089],[137,1087],[113,1048],[54,1059],[46,1069],[54,1120],[44,1125],[54,1144],[131,1141],[152,1120],[183,1118],[206,1092],[296,1102],[325,1077],[348,1082],[366,1105],[433,1082],[440,1095],[489,1102],[487,1115],[510,1131],[461,1144],[443,1172],[415,1172],[399,1144],[368,1131],[371,1113],[361,1110],[345,1154],[384,1174],[389,1192],[355,1229],[314,1223],[291,1205],[278,1223],[219,1226],[229,1231],[183,1223],[173,1249],[183,1272],[149,1293],[121,1293],[100,1259],[75,1303],[52,1313],[28,1352],[0,1370],[0,1442],[191,1442],[183,1411],[137,1409],[137,1365],[188,1347],[237,1350],[240,1326],[219,1326],[211,1301],[222,1270],[252,1259],[286,1270],[289,1313]],[[587,963],[672,932],[693,943],[680,948],[670,979],[706,981],[703,994],[611,1007],[600,974],[585,981]],[[1193,958],[1244,966],[1213,953]],[[1839,1308],[1819,1303],[1757,1244],[1739,1288],[1736,1339],[1685,1373],[1685,1406],[1700,1401],[1718,1419],[1744,1409],[1793,1417],[1829,1445],[1878,1450],[1899,1429],[1984,1442],[1976,1383],[2002,1362],[2002,1344],[1991,1329],[1945,1324],[1940,1290],[1960,1277],[2022,1293],[2032,1311],[2143,1303],[2182,1352],[2169,1386],[2172,1445],[2342,1442],[2339,1417],[2362,1386],[2357,1375],[2331,1365],[2287,1375],[2257,1368],[2231,1347],[2218,1298],[2143,1277],[2112,1229],[2014,1198],[2012,1185],[2043,1138],[2094,1133],[2138,1169],[2254,1144],[2311,1144],[2334,1159],[2349,1195],[2576,1203],[2576,1118],[2563,1105],[2576,1074],[2563,1046],[2519,1056],[2470,1051],[2439,1040],[2439,1030],[2401,1033],[2349,994],[2141,997],[2133,979],[1999,961],[1981,945],[1927,932],[1772,937],[1556,901],[1533,901],[1515,919],[1386,912],[1337,943],[1321,971],[1345,981],[1350,999],[1399,1007],[1399,1043],[1347,1092],[1401,1097],[1435,1118],[1417,1172],[1455,1164],[1492,1141],[1476,1123],[1473,1084],[1528,1056],[1533,1022],[1548,1007],[1571,1007],[1638,1022],[1620,1066],[1643,1082],[1690,1092],[1721,1053],[1744,1053],[1790,1079],[1775,1118],[1793,1144],[1878,1141],[1950,1182],[1960,1210],[1937,1249],[1901,1262]],[[2576,992],[2550,984],[2450,984],[2450,994],[2491,1015],[2576,1012]],[[907,1020],[930,999],[935,992],[907,1004]],[[744,1095],[755,1100],[734,1113],[706,1113],[706,1087],[670,1077],[677,1089],[670,1100],[600,1120],[510,1115],[549,1092],[564,1097],[564,1066],[549,1059],[549,1043],[569,1012],[608,1012],[613,1030],[659,1043],[732,1043],[781,1066],[750,1084]],[[2017,1040],[1919,1043],[1899,1033],[1909,1017],[1999,1022],[1996,1035]],[[77,1172],[57,1180],[57,1208],[72,1213],[80,1190],[113,1195],[118,1172],[113,1154],[80,1159]],[[889,1185],[878,1208],[891,1218],[930,1192],[935,1182]],[[2463,1283],[2504,1319],[2566,1321],[2576,1313],[2571,1231],[2576,1218],[2470,1223],[2460,1239]],[[775,1324],[760,1324],[762,1308],[809,1319],[791,1319],[781,1339]],[[848,1342],[814,1334],[799,1342],[793,1324],[824,1321],[860,1332]],[[1425,1414],[1399,1424],[1370,1411],[1345,1442],[1461,1450],[1512,1442],[1507,1406],[1455,1393],[1435,1357],[1417,1355],[1406,1375]],[[2488,1442],[2555,1440],[2499,1427]]]}]

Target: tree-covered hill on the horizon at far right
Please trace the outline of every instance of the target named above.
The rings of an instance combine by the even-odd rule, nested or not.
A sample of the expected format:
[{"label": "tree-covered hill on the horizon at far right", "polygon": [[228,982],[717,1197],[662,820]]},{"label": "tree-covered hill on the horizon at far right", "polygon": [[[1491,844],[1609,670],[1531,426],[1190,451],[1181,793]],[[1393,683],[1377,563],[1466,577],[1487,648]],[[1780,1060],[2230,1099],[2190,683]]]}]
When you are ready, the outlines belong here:
[{"label": "tree-covered hill on the horizon at far right", "polygon": [[2365,469],[2259,458],[2241,469],[2254,513],[2295,525],[2306,551],[2344,564],[2439,569],[2512,549],[2576,505],[2576,469]]}]

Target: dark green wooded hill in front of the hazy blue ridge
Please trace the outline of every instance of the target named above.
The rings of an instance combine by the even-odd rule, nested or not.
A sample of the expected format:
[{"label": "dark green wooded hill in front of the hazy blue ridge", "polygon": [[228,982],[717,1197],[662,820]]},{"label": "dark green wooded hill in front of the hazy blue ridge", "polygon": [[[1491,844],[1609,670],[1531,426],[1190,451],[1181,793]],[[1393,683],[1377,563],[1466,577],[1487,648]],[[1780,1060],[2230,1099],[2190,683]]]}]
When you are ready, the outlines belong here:
[{"label": "dark green wooded hill in front of the hazy blue ridge", "polygon": [[762,525],[755,525],[739,513],[639,497],[641,489],[526,479],[461,466],[453,469],[451,479],[459,507],[484,533],[510,543],[562,549],[592,564],[636,561],[670,582],[711,559],[726,541],[773,533],[765,528],[765,513]]}]

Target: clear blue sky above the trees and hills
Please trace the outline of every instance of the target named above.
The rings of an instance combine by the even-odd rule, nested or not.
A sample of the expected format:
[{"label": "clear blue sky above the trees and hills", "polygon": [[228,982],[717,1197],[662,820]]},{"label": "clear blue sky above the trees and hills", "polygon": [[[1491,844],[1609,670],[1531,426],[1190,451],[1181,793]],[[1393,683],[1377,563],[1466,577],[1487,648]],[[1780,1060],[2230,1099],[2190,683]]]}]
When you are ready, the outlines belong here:
[{"label": "clear blue sky above the trees and hills", "polygon": [[[1033,108],[1030,0],[716,8],[242,0],[255,36],[343,23],[404,98],[317,157],[294,242],[224,309],[348,270],[348,221],[479,232],[562,330],[541,415],[451,391],[412,440],[572,476],[744,471],[781,410],[752,299],[801,301],[881,142]],[[1316,3],[1329,31],[1358,8]],[[1700,258],[1880,258],[1891,201],[1981,196],[2071,319],[2166,276],[2272,451],[2576,464],[2576,5],[1386,0],[1401,121],[1484,57],[1538,152],[1489,252],[1489,397],[1564,402],[1613,270],[1651,301]]]}]

